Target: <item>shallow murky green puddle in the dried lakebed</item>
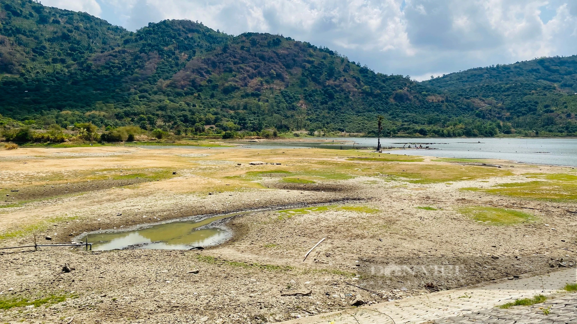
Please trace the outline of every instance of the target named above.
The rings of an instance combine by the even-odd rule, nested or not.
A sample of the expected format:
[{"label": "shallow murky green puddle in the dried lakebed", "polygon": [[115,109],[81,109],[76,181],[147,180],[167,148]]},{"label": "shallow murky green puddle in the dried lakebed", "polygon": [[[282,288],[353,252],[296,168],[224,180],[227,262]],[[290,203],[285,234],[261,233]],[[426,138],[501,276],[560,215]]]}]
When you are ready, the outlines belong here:
[{"label": "shallow murky green puddle in the dried lakebed", "polygon": [[[151,224],[125,231],[96,231],[88,233],[93,251],[122,248],[153,248],[158,250],[188,250],[197,246],[212,246],[230,239],[230,229],[212,223],[230,214],[203,220],[176,220]],[[85,241],[86,236],[81,238]]]}]

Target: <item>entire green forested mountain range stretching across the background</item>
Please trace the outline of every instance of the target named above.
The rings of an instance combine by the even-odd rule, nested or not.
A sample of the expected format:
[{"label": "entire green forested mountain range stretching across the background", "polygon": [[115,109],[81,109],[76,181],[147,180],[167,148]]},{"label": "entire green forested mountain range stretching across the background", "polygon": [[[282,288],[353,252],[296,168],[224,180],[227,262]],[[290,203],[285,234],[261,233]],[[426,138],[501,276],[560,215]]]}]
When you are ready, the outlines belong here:
[{"label": "entire green forested mountain range stretching across the background", "polygon": [[415,82],[280,35],[232,36],[188,20],[129,32],[32,0],[2,3],[5,129],[90,122],[94,129],[174,134],[374,134],[376,116],[383,115],[388,135],[577,132],[569,96],[577,92],[574,56]]}]

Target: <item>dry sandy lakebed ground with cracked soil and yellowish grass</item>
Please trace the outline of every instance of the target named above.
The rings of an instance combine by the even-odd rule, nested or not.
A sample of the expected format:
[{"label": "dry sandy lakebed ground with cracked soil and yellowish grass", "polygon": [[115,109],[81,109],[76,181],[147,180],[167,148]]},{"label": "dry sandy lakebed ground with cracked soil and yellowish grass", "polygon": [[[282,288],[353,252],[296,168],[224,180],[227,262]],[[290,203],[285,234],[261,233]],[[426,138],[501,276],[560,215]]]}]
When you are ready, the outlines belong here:
[{"label": "dry sandy lakebed ground with cracked soil and yellowish grass", "polygon": [[[249,164],[257,161],[269,164]],[[571,265],[575,202],[460,189],[575,171],[493,162],[502,168],[321,149],[2,150],[2,247],[29,244],[34,233],[69,242],[158,218],[290,210],[227,219],[233,239],[203,251],[2,250],[0,300],[70,298],[0,310],[0,322],[275,322],[348,308],[359,292],[377,303],[428,293],[426,284],[451,289]],[[463,206],[533,217],[496,225],[460,213]],[[74,270],[62,272],[63,263]]]}]

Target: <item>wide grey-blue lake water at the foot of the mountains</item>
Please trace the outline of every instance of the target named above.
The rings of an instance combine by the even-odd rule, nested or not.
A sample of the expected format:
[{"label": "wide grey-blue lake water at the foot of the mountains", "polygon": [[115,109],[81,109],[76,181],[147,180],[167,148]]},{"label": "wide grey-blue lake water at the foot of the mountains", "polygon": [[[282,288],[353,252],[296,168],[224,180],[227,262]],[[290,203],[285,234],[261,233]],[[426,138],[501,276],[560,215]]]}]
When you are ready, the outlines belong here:
[{"label": "wide grey-blue lake water at the foot of the mountains", "polygon": [[[320,138],[334,142],[237,142],[244,148],[332,148],[377,146],[376,138]],[[414,149],[415,144],[434,149]],[[402,149],[411,146],[411,149]],[[500,159],[532,164],[577,167],[577,138],[381,138],[381,146],[406,155]]]}]

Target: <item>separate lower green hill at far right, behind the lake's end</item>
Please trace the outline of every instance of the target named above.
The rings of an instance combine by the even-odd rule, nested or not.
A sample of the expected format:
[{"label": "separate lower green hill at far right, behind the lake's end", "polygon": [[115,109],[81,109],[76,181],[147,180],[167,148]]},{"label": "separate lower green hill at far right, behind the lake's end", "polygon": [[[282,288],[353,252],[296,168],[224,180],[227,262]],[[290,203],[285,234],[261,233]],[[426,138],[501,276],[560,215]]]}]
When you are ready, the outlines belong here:
[{"label": "separate lower green hill at far right, behind the lake's end", "polygon": [[[478,67],[422,82],[514,129],[575,133],[577,56]],[[506,130],[510,132],[511,130]]]}]

